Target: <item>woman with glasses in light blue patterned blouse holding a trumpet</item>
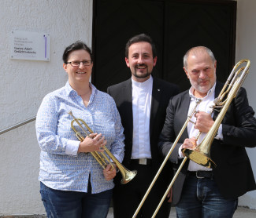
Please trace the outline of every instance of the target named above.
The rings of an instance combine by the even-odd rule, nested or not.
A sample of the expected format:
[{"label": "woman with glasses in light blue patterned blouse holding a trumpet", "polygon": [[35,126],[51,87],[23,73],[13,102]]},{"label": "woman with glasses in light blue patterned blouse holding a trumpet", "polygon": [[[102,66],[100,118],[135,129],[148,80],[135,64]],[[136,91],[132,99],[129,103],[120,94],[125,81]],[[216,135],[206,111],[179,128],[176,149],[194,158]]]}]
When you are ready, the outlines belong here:
[{"label": "woman with glasses in light blue patterned blouse holding a trumpet", "polygon": [[[37,114],[40,193],[48,217],[106,217],[117,171],[109,164],[103,170],[90,152],[102,152],[106,145],[120,162],[124,158],[116,104],[89,82],[91,57],[91,50],[80,41],[65,49],[63,68],[69,81],[43,98]],[[94,132],[91,137],[77,140],[69,111],[87,123]],[[78,128],[76,122],[73,125]]]}]

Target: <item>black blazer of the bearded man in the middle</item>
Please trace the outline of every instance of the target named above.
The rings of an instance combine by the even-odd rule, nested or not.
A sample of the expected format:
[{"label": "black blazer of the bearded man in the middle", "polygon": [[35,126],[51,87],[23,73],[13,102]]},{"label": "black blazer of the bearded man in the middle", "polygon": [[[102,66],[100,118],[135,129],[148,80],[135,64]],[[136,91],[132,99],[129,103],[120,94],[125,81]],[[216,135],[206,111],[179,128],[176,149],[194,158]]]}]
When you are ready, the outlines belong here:
[{"label": "black blazer of the bearded man in the middle", "polygon": [[[107,93],[113,97],[117,104],[117,110],[121,115],[121,122],[124,127],[124,160],[123,164],[129,168],[132,156],[132,79],[112,85]],[[177,85],[165,82],[159,78],[153,78],[153,89],[150,109],[150,150],[152,165],[157,170],[162,162],[161,152],[158,151],[158,138],[165,122],[166,107],[169,99],[179,93]]]}]

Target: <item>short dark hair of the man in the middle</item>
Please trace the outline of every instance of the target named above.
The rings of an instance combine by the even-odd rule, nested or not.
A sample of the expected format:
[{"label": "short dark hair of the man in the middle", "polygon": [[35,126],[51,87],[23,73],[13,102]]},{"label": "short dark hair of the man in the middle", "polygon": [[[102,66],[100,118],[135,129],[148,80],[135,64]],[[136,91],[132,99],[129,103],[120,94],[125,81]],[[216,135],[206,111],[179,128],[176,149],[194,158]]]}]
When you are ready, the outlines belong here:
[{"label": "short dark hair of the man in the middle", "polygon": [[154,45],[154,42],[152,40],[152,38],[150,38],[149,35],[146,34],[140,34],[140,35],[135,35],[134,37],[130,38],[128,40],[128,42],[126,43],[125,46],[125,57],[128,58],[128,54],[129,54],[129,47],[136,43],[136,42],[148,42],[150,43],[151,47],[152,47],[152,53],[153,53],[153,57],[157,56],[157,49]]}]

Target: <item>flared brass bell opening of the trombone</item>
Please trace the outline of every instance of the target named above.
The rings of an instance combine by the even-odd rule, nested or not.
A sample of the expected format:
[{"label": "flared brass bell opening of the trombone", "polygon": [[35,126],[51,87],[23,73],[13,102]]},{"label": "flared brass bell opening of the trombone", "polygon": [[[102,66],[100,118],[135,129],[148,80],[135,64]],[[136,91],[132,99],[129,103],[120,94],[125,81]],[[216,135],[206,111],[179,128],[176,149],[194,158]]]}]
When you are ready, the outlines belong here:
[{"label": "flared brass bell opening of the trombone", "polygon": [[215,162],[210,158],[209,154],[200,151],[199,149],[182,149],[182,153],[189,158],[192,162],[197,163],[198,165],[205,166],[207,168],[216,168]]}]

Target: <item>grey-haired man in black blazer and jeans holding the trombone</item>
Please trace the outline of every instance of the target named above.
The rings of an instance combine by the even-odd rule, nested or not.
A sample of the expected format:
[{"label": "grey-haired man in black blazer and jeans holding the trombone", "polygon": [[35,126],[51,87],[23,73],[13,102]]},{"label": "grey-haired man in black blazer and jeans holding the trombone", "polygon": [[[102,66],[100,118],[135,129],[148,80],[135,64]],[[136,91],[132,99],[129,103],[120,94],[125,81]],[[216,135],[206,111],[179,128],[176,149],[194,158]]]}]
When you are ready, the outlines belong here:
[{"label": "grey-haired man in black blazer and jeans holding the trombone", "polygon": [[[200,144],[217,118],[218,111],[212,113],[211,106],[223,84],[216,80],[216,66],[213,53],[204,46],[194,47],[184,56],[184,71],[191,82],[191,89],[170,100],[158,142],[166,156],[187,114],[196,107],[195,115],[169,157],[174,171],[184,160],[181,150],[192,150]],[[198,100],[201,102],[196,106]],[[254,111],[248,104],[246,90],[240,88],[210,147],[211,158],[217,167],[209,169],[191,160],[187,161],[173,185],[173,204],[176,205],[177,217],[232,217],[238,197],[256,189],[245,149],[255,145]]]}]

